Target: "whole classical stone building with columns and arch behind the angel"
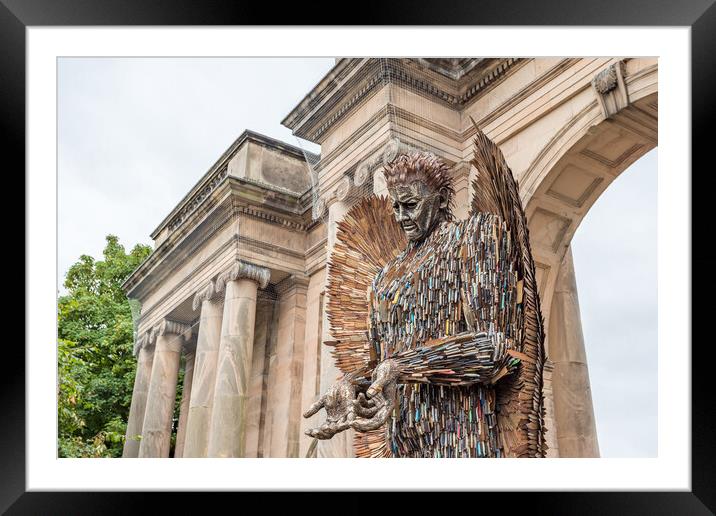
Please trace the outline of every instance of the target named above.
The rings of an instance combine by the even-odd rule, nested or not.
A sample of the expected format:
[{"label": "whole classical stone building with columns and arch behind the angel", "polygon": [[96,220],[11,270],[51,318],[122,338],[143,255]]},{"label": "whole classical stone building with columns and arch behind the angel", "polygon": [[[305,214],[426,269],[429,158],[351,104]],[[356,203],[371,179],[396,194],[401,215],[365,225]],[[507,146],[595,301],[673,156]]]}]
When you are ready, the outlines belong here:
[{"label": "whole classical stone building with columns and arch behind the angel", "polygon": [[[125,457],[344,457],[310,450],[302,412],[338,375],[324,313],[336,222],[401,147],[453,166],[471,198],[470,117],[526,207],[547,324],[549,456],[599,455],[570,241],[609,184],[657,144],[657,59],[337,59],[282,121],[320,156],[245,131],[152,233],[126,280],[141,305]],[[132,438],[141,435],[141,440]]]}]

